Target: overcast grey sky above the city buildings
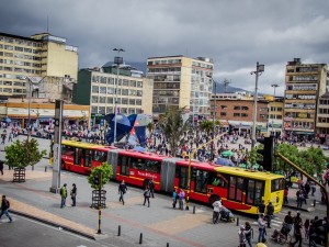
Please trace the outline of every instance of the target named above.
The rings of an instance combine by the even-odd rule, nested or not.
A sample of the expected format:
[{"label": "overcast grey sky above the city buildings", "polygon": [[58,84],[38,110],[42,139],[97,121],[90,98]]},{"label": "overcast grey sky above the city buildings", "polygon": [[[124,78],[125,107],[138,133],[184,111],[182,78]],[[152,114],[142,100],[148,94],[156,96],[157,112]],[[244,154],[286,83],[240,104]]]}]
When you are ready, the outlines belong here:
[{"label": "overcast grey sky above the city buildings", "polygon": [[[5,3],[4,3],[5,2]],[[254,90],[256,63],[265,65],[259,90],[284,90],[288,60],[329,63],[328,0],[5,0],[0,32],[47,31],[79,48],[79,67],[184,55],[211,57],[215,80]]]}]

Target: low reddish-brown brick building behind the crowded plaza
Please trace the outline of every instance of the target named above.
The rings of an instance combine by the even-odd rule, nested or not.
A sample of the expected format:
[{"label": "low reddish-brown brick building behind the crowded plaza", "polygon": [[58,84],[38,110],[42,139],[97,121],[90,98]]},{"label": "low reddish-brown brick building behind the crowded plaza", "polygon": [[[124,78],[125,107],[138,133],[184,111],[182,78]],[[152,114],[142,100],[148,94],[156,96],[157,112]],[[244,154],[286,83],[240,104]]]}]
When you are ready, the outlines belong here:
[{"label": "low reddish-brown brick building behind the crowded plaza", "polygon": [[[214,109],[215,100],[212,99]],[[257,134],[268,135],[269,101],[259,100],[257,103]],[[216,100],[215,119],[219,120],[224,127],[228,124],[238,133],[251,134],[253,126],[253,100],[245,99],[218,99]]]}]

